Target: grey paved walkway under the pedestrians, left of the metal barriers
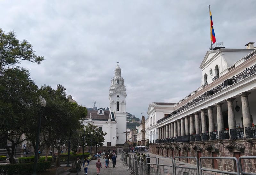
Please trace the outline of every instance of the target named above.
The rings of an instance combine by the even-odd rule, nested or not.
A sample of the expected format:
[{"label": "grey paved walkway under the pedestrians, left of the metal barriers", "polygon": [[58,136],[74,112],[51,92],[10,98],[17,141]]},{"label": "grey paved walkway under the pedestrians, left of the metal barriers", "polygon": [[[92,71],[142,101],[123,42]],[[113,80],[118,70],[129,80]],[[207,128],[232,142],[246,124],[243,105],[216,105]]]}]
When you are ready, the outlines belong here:
[{"label": "grey paved walkway under the pedestrians, left of the metal barriers", "polygon": [[[112,162],[109,163],[109,167],[105,168],[105,159],[103,157],[100,158],[100,162],[102,165],[102,168],[100,168],[100,174],[105,175],[105,174],[114,174],[114,175],[130,175],[130,171],[127,167],[124,166],[122,161],[120,160],[121,154],[117,155],[116,159],[116,167],[113,168]],[[96,165],[95,163],[97,160],[91,160],[89,162],[88,166],[88,175],[97,175],[97,170],[96,170]],[[84,168],[81,168],[81,171],[78,173],[79,175],[84,174]],[[70,175],[76,175],[76,173],[70,173]]]}]

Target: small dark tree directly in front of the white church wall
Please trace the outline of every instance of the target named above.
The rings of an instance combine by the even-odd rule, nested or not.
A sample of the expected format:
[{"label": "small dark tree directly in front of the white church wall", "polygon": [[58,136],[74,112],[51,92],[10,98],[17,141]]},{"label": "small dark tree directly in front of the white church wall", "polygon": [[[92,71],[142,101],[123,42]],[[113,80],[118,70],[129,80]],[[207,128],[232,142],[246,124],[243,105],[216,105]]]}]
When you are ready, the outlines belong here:
[{"label": "small dark tree directly in front of the white church wall", "polygon": [[[99,131],[99,127],[97,125],[93,125],[88,123],[85,131],[85,144],[87,146],[103,146],[103,142],[105,141],[104,136],[107,135],[106,132]],[[91,134],[92,131],[92,134]],[[92,140],[92,142],[91,142]],[[83,144],[81,144],[83,145]],[[97,148],[96,148],[97,149]],[[97,150],[96,150],[97,151]]]}]

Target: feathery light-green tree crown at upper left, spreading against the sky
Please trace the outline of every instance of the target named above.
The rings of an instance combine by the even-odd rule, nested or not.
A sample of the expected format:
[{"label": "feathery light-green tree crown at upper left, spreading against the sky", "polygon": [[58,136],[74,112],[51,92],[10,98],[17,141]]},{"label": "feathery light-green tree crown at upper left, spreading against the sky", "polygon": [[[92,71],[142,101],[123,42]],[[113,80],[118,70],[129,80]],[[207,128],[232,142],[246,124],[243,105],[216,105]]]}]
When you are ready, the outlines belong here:
[{"label": "feathery light-green tree crown at upper left, spreading against the sky", "polygon": [[15,32],[11,31],[5,34],[0,28],[0,74],[6,68],[19,63],[20,60],[40,64],[44,57],[36,56],[32,45],[27,40],[19,42]]}]

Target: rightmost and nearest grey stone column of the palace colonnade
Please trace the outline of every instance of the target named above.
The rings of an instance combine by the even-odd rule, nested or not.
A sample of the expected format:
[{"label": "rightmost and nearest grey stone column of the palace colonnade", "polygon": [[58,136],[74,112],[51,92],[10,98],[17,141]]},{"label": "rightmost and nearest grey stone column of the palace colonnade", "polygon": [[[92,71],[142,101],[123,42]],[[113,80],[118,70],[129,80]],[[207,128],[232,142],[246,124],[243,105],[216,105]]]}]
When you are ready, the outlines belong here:
[{"label": "rightmost and nearest grey stone column of the palace colonnade", "polygon": [[242,102],[242,115],[243,115],[243,125],[244,125],[244,136],[246,138],[246,132],[245,132],[245,127],[250,127],[252,126],[252,119],[251,119],[251,112],[250,112],[250,107],[249,107],[249,101],[248,101],[248,95],[250,93],[244,92],[239,94],[241,97],[241,102]]}]

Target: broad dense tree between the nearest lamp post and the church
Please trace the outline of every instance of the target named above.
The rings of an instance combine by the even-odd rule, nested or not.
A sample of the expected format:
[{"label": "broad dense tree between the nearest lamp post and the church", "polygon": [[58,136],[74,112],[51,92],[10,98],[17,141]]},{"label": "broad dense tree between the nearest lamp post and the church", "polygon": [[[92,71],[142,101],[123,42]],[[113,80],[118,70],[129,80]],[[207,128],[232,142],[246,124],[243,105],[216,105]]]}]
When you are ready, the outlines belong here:
[{"label": "broad dense tree between the nearest lamp post and the church", "polygon": [[[70,130],[80,128],[81,118],[87,115],[85,107],[68,101],[65,91],[62,85],[57,85],[56,90],[44,85],[38,92],[47,101],[41,123],[41,138],[46,145],[45,161],[50,147],[53,153],[57,147],[60,154],[60,147],[68,140]],[[58,166],[59,159],[56,162]]]}]

